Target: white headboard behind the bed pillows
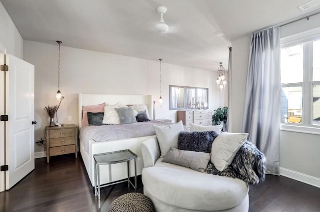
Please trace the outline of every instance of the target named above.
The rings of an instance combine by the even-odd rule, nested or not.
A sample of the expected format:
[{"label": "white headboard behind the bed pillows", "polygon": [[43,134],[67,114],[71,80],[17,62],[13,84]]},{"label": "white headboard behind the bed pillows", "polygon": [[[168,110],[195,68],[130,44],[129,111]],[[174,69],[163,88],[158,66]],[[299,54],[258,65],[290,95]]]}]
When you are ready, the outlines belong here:
[{"label": "white headboard behind the bed pillows", "polygon": [[150,117],[152,117],[152,96],[151,95],[116,95],[116,94],[78,94],[78,121],[79,127],[82,120],[82,106],[96,105],[101,103],[113,105],[120,102],[122,105],[146,104]]}]

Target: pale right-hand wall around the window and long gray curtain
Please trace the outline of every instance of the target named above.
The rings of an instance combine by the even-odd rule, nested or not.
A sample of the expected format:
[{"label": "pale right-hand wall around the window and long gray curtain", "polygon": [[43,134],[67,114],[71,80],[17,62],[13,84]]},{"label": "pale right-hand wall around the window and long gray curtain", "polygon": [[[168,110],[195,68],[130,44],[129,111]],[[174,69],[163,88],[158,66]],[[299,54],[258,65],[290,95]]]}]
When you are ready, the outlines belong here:
[{"label": "pale right-hand wall around the window and long gray curtain", "polygon": [[[281,37],[320,26],[320,15],[280,28]],[[231,41],[232,45],[232,131],[239,132],[242,123],[244,90],[250,35]],[[320,186],[320,135],[280,132],[280,174]],[[281,173],[281,170],[285,173]],[[315,182],[315,183],[314,183]],[[311,183],[312,184],[312,183]]]}]

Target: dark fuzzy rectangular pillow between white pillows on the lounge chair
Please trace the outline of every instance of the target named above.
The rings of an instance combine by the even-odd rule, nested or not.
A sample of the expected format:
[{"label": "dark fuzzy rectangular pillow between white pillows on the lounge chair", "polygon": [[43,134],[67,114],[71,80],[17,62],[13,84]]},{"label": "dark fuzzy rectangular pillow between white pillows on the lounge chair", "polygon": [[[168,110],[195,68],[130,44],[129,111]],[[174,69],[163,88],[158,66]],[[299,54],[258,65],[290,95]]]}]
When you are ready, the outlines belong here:
[{"label": "dark fuzzy rectangular pillow between white pillows on the lounge chair", "polygon": [[212,142],[217,136],[215,131],[180,132],[178,149],[210,153]]}]

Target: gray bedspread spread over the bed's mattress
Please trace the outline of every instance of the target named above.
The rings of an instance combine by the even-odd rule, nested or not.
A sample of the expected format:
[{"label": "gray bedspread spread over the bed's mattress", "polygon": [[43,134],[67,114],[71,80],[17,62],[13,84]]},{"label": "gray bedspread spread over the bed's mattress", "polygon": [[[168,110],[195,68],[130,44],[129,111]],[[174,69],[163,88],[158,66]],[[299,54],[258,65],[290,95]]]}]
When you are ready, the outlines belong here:
[{"label": "gray bedspread spread over the bed's mattress", "polygon": [[151,120],[133,124],[83,126],[80,129],[80,141],[87,152],[89,140],[96,142],[113,141],[155,135],[153,125],[170,125],[171,123]]}]

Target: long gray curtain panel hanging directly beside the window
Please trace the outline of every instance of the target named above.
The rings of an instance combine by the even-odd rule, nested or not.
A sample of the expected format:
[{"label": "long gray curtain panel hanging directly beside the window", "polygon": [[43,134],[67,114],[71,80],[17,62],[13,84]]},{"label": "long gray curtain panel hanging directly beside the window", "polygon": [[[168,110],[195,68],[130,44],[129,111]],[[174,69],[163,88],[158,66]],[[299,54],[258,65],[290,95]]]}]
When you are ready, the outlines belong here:
[{"label": "long gray curtain panel hanging directly beside the window", "polygon": [[242,131],[264,153],[267,174],[279,174],[280,36],[274,26],[251,35]]}]

